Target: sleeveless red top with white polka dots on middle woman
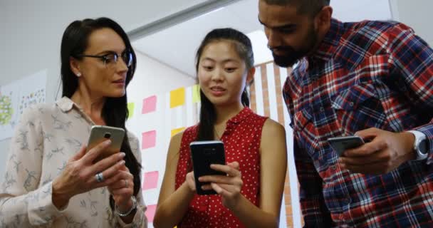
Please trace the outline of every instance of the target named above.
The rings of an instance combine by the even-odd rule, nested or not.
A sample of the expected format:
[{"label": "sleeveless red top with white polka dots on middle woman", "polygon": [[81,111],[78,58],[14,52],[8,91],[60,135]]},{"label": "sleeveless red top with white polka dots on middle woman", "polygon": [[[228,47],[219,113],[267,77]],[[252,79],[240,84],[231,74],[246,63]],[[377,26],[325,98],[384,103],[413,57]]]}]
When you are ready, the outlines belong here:
[{"label": "sleeveless red top with white polka dots on middle woman", "polygon": [[[267,118],[244,108],[226,123],[221,136],[226,151],[226,162],[239,162],[244,185],[241,194],[259,207],[260,190],[260,140]],[[187,128],[182,136],[179,162],[176,171],[176,189],[185,181],[192,164],[189,143],[197,138],[197,125]],[[237,217],[222,205],[219,195],[194,195],[187,213],[178,224],[185,227],[244,227]]]}]

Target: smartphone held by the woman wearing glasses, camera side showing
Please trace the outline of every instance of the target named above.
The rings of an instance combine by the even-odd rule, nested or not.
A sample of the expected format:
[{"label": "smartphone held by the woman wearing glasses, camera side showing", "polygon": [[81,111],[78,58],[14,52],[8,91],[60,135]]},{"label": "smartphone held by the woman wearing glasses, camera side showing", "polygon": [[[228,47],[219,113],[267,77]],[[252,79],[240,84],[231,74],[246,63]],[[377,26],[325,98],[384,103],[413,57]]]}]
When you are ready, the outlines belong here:
[{"label": "smartphone held by the woman wearing glasses, camera side showing", "polygon": [[103,125],[93,125],[90,130],[90,137],[87,144],[87,151],[91,150],[96,145],[105,140],[111,140],[110,146],[103,151],[93,162],[103,160],[105,157],[120,152],[122,147],[123,138],[125,137],[125,130],[122,128],[114,128]]}]

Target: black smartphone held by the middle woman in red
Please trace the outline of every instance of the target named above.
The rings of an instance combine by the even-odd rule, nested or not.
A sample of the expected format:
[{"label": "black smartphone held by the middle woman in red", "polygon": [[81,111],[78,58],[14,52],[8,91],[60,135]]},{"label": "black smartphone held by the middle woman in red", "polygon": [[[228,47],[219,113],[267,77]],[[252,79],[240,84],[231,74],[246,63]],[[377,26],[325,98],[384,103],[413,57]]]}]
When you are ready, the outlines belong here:
[{"label": "black smartphone held by the middle woman in red", "polygon": [[194,170],[195,187],[198,195],[214,195],[214,190],[202,190],[202,185],[206,182],[199,182],[199,177],[206,175],[223,175],[225,172],[212,170],[211,164],[226,165],[226,155],[224,143],[221,141],[199,141],[191,142],[192,168]]}]

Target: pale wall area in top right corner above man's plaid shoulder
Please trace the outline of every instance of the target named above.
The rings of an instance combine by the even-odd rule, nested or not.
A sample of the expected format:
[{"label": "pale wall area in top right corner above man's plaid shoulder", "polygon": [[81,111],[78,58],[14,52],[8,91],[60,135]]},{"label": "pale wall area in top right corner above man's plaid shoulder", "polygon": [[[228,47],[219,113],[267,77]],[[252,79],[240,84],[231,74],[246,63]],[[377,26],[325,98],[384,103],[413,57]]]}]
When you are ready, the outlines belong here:
[{"label": "pale wall area in top right corner above man's plaid shoulder", "polygon": [[396,21],[414,28],[418,36],[433,46],[431,26],[433,1],[429,0],[390,0],[392,16]]}]

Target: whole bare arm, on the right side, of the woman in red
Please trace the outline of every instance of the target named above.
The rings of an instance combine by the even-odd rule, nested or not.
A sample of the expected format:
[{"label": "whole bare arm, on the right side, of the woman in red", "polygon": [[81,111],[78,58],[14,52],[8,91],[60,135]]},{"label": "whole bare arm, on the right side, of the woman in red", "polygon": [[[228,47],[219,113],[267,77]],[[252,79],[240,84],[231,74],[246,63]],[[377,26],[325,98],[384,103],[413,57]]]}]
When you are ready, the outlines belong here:
[{"label": "whole bare arm, on the right side, of the woman in red", "polygon": [[287,170],[286,131],[268,119],[261,133],[260,207],[241,197],[232,211],[246,227],[278,227]]}]

